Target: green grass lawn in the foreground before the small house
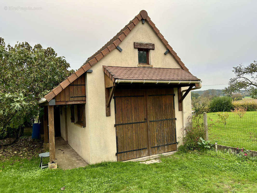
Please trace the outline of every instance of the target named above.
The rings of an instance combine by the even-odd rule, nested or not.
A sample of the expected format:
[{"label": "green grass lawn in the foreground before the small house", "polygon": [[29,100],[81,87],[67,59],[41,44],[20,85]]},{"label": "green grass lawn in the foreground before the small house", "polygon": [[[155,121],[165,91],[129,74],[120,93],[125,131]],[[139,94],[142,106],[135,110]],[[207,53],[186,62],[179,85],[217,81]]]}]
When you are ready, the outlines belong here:
[{"label": "green grass lawn in the foreground before the small house", "polygon": [[233,154],[216,155],[213,150],[160,159],[149,165],[103,162],[40,170],[38,157],[12,157],[0,162],[0,192],[257,192],[257,162],[241,162]]}]

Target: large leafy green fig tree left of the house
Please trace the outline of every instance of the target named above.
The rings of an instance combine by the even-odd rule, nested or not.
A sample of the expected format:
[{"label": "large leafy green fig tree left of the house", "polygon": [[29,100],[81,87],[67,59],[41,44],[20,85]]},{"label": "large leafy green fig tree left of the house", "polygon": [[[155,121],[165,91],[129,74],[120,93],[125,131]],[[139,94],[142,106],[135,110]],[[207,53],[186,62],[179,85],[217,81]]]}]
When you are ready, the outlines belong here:
[{"label": "large leafy green fig tree left of the house", "polygon": [[39,113],[38,99],[73,73],[62,56],[40,44],[12,47],[0,38],[0,135],[19,138],[23,123]]}]

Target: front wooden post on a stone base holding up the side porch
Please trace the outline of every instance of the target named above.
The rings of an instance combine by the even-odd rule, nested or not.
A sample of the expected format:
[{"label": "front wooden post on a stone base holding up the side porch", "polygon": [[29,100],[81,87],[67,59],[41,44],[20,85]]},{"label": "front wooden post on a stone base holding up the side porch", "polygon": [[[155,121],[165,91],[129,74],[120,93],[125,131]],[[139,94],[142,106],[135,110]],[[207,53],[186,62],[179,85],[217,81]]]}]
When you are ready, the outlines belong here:
[{"label": "front wooden post on a stone base holding up the side porch", "polygon": [[53,106],[48,106],[48,125],[49,125],[49,153],[50,153],[49,163],[53,163],[55,162]]}]

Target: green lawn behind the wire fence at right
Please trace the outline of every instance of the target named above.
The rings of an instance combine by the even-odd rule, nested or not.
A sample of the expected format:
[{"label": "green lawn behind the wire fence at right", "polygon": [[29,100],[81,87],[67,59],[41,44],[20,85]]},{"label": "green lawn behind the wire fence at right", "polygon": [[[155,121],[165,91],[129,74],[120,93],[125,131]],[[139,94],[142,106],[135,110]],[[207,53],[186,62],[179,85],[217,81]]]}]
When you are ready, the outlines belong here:
[{"label": "green lawn behind the wire fence at right", "polygon": [[[224,124],[217,122],[217,113],[207,113],[208,124],[214,123],[208,128],[211,143],[231,147],[244,147],[249,150],[257,150],[257,112],[248,111],[240,118],[232,112],[228,112],[226,128]],[[253,136],[251,138],[250,136]]]}]

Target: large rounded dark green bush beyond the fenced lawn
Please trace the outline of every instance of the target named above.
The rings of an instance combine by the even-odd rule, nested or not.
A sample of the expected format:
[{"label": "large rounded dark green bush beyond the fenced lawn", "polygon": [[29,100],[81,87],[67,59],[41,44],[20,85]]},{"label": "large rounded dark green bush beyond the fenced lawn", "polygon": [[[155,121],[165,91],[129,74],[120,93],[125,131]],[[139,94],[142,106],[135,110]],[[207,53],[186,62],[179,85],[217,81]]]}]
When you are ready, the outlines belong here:
[{"label": "large rounded dark green bush beyond the fenced lawn", "polygon": [[209,104],[211,112],[230,111],[232,107],[232,99],[228,96],[215,97]]}]

